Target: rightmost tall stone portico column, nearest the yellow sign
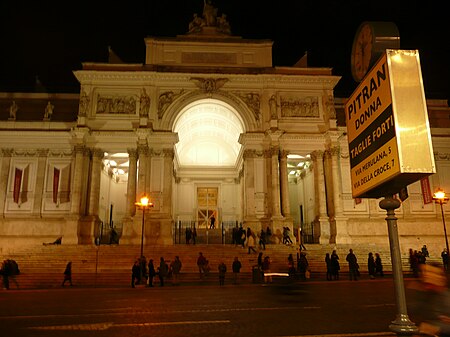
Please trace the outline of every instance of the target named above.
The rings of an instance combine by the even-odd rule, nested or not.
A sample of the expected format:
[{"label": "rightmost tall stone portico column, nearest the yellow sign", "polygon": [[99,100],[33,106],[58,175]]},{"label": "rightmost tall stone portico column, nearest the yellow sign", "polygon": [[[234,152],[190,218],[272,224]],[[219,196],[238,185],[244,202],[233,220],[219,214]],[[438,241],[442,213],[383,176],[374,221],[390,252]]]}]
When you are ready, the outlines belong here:
[{"label": "rightmost tall stone portico column, nearest the yellow sign", "polygon": [[333,178],[333,204],[334,204],[334,243],[351,243],[348,235],[347,220],[344,216],[344,208],[342,205],[342,187],[340,180],[340,167],[338,162],[339,147],[330,149],[331,154],[331,172]]}]

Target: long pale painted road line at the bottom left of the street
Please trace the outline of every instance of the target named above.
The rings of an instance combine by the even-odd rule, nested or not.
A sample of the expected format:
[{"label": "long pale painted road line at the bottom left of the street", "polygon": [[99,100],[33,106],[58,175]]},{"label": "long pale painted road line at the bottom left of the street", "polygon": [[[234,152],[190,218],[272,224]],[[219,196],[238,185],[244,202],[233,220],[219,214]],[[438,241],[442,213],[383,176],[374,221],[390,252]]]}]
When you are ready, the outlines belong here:
[{"label": "long pale painted road line at the bottom left of the street", "polygon": [[123,323],[114,324],[111,322],[96,323],[96,324],[71,324],[71,325],[49,325],[49,326],[33,326],[28,327],[29,330],[83,330],[83,331],[98,331],[107,330],[110,328],[123,327],[145,327],[145,326],[163,326],[163,325],[185,325],[185,324],[228,324],[229,320],[220,321],[182,321],[182,322],[151,322],[151,323]]}]

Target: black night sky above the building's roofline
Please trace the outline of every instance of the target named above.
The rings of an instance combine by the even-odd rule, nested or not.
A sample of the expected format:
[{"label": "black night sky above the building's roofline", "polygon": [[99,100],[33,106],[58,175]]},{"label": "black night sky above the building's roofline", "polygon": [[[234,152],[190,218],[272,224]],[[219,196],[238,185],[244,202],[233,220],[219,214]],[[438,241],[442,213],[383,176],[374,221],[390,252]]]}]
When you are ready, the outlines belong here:
[{"label": "black night sky above the building's roofline", "polygon": [[[353,36],[362,21],[392,21],[401,49],[418,49],[427,98],[450,99],[450,26],[434,1],[213,0],[232,33],[269,39],[274,66],[292,66],[305,51],[312,67],[342,76],[337,97],[356,88],[350,73]],[[0,3],[0,91],[78,92],[72,71],[107,62],[108,45],[126,63],[145,61],[146,36],[185,34],[203,0],[20,1]]]}]

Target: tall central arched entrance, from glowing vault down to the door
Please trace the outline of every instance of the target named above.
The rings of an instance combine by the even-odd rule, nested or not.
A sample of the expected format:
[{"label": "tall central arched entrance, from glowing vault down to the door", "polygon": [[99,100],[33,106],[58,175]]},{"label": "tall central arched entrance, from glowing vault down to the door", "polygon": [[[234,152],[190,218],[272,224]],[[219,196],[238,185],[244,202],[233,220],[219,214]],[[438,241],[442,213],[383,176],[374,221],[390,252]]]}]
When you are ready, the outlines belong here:
[{"label": "tall central arched entrance, from glowing vault down to the door", "polygon": [[174,159],[176,241],[186,227],[196,228],[200,242],[222,241],[223,232],[242,220],[242,118],[223,101],[200,99],[179,112],[173,132],[179,139]]}]

